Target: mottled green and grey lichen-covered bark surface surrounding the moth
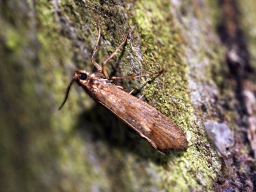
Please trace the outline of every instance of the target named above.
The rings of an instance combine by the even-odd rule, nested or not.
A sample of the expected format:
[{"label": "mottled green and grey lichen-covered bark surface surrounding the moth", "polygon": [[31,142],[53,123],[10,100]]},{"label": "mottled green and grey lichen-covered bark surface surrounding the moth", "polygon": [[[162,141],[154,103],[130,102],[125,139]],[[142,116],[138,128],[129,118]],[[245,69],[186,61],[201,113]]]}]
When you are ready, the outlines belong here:
[{"label": "mottled green and grey lichen-covered bark surface surrounding the moth", "polygon": [[[253,191],[256,3],[0,1],[2,191]],[[188,149],[163,156],[78,87],[130,29],[109,75],[174,121]],[[132,29],[134,28],[134,31]]]}]

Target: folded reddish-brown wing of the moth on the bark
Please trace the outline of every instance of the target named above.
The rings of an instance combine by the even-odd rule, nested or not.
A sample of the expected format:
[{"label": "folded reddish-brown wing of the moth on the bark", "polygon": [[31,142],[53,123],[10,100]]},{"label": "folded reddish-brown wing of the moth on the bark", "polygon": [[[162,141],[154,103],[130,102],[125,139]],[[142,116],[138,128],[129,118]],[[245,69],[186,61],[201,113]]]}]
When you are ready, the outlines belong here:
[{"label": "folded reddish-brown wing of the moth on the bark", "polygon": [[95,96],[97,102],[122,119],[162,154],[188,147],[185,135],[174,122],[137,97],[114,85],[100,87],[100,92]]}]

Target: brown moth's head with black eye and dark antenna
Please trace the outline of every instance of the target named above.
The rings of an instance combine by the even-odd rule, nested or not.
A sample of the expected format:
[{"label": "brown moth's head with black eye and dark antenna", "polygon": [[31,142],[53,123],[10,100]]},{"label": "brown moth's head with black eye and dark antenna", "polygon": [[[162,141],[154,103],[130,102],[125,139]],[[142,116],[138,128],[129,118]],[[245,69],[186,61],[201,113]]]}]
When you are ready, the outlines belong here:
[{"label": "brown moth's head with black eye and dark antenna", "polygon": [[68,93],[70,91],[70,87],[73,85],[73,82],[78,82],[78,84],[80,84],[81,81],[85,81],[87,79],[87,77],[88,77],[88,74],[86,73],[85,70],[75,70],[73,79],[68,84],[68,87],[67,87],[67,90],[65,93],[65,98],[63,100],[62,105],[60,105],[59,110],[61,110],[61,108],[65,104],[66,100],[68,100]]}]

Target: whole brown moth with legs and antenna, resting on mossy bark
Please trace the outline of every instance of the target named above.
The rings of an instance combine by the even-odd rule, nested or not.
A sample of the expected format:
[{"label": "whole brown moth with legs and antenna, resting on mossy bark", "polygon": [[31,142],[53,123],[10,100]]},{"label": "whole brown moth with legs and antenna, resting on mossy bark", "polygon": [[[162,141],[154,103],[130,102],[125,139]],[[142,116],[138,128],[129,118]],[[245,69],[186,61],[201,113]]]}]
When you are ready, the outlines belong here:
[{"label": "whole brown moth with legs and antenna, resting on mossy bark", "polygon": [[[134,129],[137,134],[146,139],[154,149],[161,154],[166,154],[170,150],[185,150],[188,147],[188,142],[178,126],[171,122],[164,114],[161,114],[151,105],[139,100],[137,97],[130,95],[122,90],[122,87],[114,85],[114,79],[122,78],[141,78],[149,75],[137,75],[127,77],[112,77],[109,78],[105,63],[110,60],[119,48],[125,43],[129,31],[127,28],[126,36],[116,50],[102,63],[102,67],[93,60],[97,51],[97,44],[100,41],[100,24],[98,24],[98,37],[95,48],[92,52],[91,61],[100,73],[89,74],[85,70],[75,70],[73,80],[68,85],[67,92],[63,104],[68,99],[68,92],[73,82],[77,82],[85,92],[92,97],[93,100],[99,102],[103,107],[119,117],[123,122]],[[162,70],[158,73],[161,73]]]}]

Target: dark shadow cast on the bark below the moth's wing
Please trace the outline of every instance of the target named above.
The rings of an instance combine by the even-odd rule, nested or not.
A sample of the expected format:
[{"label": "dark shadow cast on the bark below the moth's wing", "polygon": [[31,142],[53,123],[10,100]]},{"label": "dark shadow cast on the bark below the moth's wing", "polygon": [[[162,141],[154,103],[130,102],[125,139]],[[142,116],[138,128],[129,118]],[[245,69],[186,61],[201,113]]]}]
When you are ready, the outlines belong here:
[{"label": "dark shadow cast on the bark below the moth's wing", "polygon": [[80,134],[84,139],[90,138],[92,144],[101,141],[107,145],[107,149],[118,149],[124,153],[127,151],[128,154],[136,154],[139,159],[151,160],[155,164],[166,164],[174,158],[173,153],[175,156],[183,155],[182,151],[174,151],[166,156],[160,154],[136,132],[99,104],[92,107],[92,110],[80,114],[76,127],[71,134]]}]

